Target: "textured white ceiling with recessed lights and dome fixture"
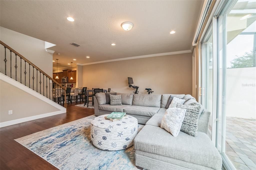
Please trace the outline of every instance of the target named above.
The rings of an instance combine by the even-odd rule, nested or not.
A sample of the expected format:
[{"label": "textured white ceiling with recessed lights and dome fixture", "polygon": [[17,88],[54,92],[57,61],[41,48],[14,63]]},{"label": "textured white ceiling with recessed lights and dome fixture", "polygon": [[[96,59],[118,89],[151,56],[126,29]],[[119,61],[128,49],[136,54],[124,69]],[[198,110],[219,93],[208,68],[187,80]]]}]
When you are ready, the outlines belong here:
[{"label": "textured white ceiling with recessed lights and dome fixture", "polygon": [[[55,51],[59,67],[65,67],[73,58],[77,59],[74,63],[83,64],[190,50],[203,3],[2,0],[0,25],[56,44],[49,49]],[[68,16],[75,21],[68,21]],[[121,23],[125,21],[134,24],[130,31],[122,29]],[[169,34],[172,30],[176,33]],[[81,46],[70,45],[72,42]]]}]

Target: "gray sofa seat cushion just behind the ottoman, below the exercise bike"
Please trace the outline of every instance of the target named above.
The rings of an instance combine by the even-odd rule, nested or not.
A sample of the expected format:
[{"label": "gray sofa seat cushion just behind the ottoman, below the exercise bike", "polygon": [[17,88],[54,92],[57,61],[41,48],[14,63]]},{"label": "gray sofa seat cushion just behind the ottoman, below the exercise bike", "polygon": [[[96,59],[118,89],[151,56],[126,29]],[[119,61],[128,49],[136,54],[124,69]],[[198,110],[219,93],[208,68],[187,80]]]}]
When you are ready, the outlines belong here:
[{"label": "gray sofa seat cushion just behind the ottoman, below the exercise bike", "polygon": [[150,116],[152,117],[159,111],[160,107],[146,107],[146,106],[128,106],[124,108],[126,114]]}]

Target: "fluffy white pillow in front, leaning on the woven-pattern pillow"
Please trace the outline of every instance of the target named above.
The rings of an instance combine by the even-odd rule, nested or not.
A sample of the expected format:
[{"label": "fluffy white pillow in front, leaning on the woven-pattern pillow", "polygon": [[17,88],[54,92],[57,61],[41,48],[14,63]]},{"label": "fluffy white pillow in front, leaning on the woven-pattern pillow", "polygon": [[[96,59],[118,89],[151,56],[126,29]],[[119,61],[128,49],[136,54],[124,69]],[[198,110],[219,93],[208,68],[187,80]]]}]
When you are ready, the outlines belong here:
[{"label": "fluffy white pillow in front, leaning on the woven-pattern pillow", "polygon": [[162,119],[161,128],[170,132],[174,137],[178,136],[185,113],[186,109],[184,108],[168,108]]}]

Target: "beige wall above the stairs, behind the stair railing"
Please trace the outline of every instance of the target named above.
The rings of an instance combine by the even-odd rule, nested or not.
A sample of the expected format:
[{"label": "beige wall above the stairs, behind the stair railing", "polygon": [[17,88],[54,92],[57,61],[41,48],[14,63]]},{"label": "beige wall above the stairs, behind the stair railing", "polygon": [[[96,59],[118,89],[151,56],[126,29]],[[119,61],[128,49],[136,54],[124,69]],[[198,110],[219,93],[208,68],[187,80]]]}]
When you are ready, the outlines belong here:
[{"label": "beige wall above the stairs, behind the stair railing", "polygon": [[[0,27],[0,40],[34,63],[42,71],[52,77],[52,54],[45,51],[45,41]],[[1,72],[4,70],[4,48],[1,45]],[[7,71],[9,68],[10,51],[7,50]],[[14,75],[15,55],[12,55],[12,75]],[[24,63],[23,63],[24,64]],[[17,57],[18,71],[20,59]],[[24,66],[23,66],[24,67]],[[23,71],[24,72],[24,71]],[[20,72],[19,72],[20,74]],[[8,75],[10,76],[10,75]]]}]

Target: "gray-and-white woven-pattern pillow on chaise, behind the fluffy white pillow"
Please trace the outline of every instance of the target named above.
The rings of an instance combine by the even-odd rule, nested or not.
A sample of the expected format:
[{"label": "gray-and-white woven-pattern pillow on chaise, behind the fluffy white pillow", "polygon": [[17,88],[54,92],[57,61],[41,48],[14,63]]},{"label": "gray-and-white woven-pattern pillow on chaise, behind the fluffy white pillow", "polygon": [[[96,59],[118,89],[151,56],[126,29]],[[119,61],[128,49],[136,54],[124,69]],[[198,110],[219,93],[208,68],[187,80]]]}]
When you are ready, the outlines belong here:
[{"label": "gray-and-white woven-pattern pillow on chaise, behind the fluffy white pillow", "polygon": [[186,109],[185,118],[183,120],[181,131],[197,137],[197,129],[198,129],[198,119],[200,116],[200,105],[183,105],[183,104],[177,104],[178,108],[184,108]]}]

